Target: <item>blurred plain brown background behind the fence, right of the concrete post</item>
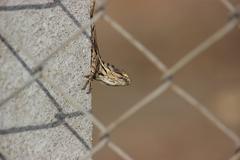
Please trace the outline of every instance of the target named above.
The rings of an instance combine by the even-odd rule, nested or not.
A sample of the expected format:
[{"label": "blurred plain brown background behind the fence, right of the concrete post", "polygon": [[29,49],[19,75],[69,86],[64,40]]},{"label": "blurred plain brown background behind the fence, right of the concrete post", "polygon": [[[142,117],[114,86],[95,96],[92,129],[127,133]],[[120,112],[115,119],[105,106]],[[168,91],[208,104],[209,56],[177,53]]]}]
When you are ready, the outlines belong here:
[{"label": "blurred plain brown background behind the fence, right of the concrete post", "polygon": [[[112,0],[107,12],[168,67],[229,17],[219,0]],[[154,90],[162,73],[105,21],[97,22],[97,34],[103,59],[132,80],[128,87],[94,84],[93,112],[108,125]],[[174,82],[240,136],[239,52],[240,30],[235,29],[177,72]],[[235,150],[228,137],[171,90],[123,123],[112,139],[138,160],[226,160]],[[95,159],[120,160],[107,148]]]}]

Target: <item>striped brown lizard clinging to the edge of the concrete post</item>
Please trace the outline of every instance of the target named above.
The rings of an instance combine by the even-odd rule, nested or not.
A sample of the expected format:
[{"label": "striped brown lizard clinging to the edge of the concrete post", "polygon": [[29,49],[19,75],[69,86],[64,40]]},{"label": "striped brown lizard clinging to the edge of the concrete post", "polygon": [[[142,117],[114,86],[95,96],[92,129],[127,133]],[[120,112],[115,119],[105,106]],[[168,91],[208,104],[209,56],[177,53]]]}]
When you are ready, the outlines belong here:
[{"label": "striped brown lizard clinging to the edge of the concrete post", "polygon": [[[90,18],[93,18],[95,11],[95,0],[92,0],[91,9],[90,9]],[[89,75],[86,75],[87,81],[83,86],[83,90],[88,88],[88,92],[90,93],[92,90],[91,84],[93,80],[102,82],[108,86],[127,86],[130,84],[130,78],[128,74],[116,68],[114,65],[106,63],[102,60],[98,43],[97,43],[97,35],[96,35],[96,27],[95,24],[91,25],[91,37],[90,37],[92,46],[91,46],[91,71]]]}]

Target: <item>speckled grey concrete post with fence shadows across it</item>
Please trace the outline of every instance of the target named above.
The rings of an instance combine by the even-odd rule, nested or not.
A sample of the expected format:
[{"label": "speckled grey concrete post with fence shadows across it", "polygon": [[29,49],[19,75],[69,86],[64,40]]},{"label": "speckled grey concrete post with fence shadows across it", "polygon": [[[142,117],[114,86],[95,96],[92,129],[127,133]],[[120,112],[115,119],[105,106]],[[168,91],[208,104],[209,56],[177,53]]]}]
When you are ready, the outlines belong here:
[{"label": "speckled grey concrete post with fence shadows across it", "polygon": [[[31,78],[27,67],[35,67],[89,22],[90,0],[1,0],[0,6],[1,101]],[[91,109],[91,94],[81,90],[90,46],[86,35],[70,43],[45,65],[48,81],[34,82],[0,107],[0,159],[76,160],[89,151],[92,123],[79,113]]]}]

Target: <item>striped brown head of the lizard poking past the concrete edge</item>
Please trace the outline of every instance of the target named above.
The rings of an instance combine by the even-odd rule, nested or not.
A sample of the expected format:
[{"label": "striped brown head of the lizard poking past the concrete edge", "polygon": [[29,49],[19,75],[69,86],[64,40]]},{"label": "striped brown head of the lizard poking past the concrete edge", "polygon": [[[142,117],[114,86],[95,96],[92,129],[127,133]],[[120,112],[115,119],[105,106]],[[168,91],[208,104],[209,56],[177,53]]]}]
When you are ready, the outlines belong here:
[{"label": "striped brown head of the lizard poking past the concrete edge", "polygon": [[97,75],[97,80],[109,86],[127,86],[131,80],[126,72],[117,69],[113,65],[104,64]]}]

